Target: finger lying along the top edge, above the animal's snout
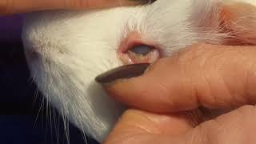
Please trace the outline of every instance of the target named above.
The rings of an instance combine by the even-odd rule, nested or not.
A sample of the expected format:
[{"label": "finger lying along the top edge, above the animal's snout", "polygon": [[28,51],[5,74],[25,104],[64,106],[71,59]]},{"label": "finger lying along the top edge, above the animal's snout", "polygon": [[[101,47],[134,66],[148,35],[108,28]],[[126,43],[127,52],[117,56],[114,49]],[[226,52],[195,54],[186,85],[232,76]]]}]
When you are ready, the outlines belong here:
[{"label": "finger lying along the top edge, above the animal's snout", "polygon": [[130,6],[138,1],[130,0],[3,0],[0,1],[0,15],[22,13],[34,10],[93,9],[110,6]]}]

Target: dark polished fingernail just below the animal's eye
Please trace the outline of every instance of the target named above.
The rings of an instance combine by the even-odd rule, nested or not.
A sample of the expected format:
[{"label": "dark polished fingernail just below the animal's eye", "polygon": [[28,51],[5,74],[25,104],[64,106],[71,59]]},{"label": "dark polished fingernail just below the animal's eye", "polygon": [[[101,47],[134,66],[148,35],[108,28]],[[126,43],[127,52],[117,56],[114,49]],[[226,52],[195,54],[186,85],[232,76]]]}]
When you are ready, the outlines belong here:
[{"label": "dark polished fingernail just below the animal's eye", "polygon": [[109,70],[106,73],[98,75],[98,77],[95,78],[95,81],[106,84],[114,82],[118,79],[138,77],[144,74],[149,66],[149,63],[120,66],[118,68]]}]

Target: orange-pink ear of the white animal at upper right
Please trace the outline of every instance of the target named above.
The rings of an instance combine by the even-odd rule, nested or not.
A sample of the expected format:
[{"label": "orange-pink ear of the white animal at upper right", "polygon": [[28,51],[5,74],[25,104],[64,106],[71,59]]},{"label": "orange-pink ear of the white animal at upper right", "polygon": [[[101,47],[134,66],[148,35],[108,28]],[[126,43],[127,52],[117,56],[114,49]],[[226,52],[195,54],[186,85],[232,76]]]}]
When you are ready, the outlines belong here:
[{"label": "orange-pink ear of the white animal at upper right", "polygon": [[230,44],[256,45],[255,2],[225,1],[219,14],[226,30],[234,35]]}]

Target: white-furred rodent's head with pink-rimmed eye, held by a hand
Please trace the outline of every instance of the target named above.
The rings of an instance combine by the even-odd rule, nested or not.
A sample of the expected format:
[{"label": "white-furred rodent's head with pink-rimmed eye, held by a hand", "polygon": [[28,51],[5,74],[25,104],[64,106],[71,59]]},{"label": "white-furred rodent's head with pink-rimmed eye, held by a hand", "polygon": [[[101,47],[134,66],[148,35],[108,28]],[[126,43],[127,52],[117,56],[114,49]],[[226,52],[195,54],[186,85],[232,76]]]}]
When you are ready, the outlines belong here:
[{"label": "white-furred rodent's head with pink-rimmed eye, held by a hand", "polygon": [[117,66],[156,62],[194,43],[254,45],[254,0],[156,0],[102,10],[26,14],[27,62],[63,118],[102,142],[126,107],[94,78]]}]

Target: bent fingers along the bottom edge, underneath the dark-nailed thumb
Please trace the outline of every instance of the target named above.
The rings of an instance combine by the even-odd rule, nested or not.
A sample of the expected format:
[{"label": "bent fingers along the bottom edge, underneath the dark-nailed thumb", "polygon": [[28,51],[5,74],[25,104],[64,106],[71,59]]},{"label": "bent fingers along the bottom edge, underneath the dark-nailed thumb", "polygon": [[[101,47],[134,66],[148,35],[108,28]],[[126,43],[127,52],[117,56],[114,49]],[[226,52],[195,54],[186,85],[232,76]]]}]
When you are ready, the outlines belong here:
[{"label": "bent fingers along the bottom edge, underneath the dark-nailed thumb", "polygon": [[[127,110],[104,144],[255,143],[255,106],[242,106],[191,127],[180,114]],[[184,116],[184,115],[183,115]]]}]

